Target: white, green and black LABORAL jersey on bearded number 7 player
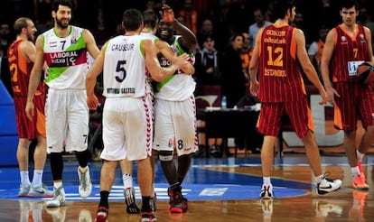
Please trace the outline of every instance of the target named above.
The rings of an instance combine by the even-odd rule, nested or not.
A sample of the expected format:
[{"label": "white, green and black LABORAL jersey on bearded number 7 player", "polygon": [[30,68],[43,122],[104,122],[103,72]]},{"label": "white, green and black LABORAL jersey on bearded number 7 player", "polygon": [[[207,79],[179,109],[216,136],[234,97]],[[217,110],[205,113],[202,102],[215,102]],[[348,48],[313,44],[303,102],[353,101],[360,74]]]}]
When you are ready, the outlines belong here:
[{"label": "white, green and black LABORAL jersey on bearded number 7 player", "polygon": [[86,42],[79,27],[71,26],[70,34],[59,37],[54,29],[44,32],[44,59],[48,69],[45,82],[50,88],[86,88],[89,59]]}]

